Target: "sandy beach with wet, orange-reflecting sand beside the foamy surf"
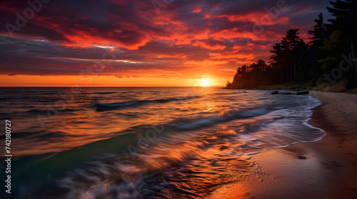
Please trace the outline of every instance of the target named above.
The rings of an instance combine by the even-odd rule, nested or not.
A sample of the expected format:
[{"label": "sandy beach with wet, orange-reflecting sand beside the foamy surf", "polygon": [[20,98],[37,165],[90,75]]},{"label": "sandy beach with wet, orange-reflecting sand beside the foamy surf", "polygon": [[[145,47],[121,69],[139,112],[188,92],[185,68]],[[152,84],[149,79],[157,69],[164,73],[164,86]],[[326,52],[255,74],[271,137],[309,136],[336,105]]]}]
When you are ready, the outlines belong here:
[{"label": "sandy beach with wet, orange-reflecting sand beside the foamy surf", "polygon": [[208,198],[357,198],[357,95],[311,92],[322,105],[308,124],[321,141],[251,156],[246,181],[222,185]]}]

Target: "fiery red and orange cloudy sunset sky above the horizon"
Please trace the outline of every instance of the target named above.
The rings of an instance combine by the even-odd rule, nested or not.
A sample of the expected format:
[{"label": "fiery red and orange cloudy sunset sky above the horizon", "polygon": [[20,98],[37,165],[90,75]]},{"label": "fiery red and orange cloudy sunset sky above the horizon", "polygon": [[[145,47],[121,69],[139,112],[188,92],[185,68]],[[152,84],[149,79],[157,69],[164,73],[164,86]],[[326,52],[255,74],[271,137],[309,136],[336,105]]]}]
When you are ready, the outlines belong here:
[{"label": "fiery red and orange cloudy sunset sky above the horizon", "polygon": [[[0,86],[223,87],[328,1],[0,2]],[[326,20],[327,21],[327,20]]]}]

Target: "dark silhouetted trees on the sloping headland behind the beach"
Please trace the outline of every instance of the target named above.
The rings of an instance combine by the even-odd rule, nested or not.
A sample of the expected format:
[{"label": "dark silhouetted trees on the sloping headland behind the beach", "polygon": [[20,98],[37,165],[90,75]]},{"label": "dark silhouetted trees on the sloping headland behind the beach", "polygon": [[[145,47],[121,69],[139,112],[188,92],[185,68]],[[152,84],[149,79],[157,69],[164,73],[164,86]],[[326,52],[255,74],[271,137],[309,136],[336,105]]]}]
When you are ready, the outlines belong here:
[{"label": "dark silhouetted trees on the sloping headland behind the beach", "polygon": [[306,43],[298,28],[289,29],[280,43],[272,46],[268,62],[258,60],[236,70],[226,88],[254,88],[266,85],[303,85],[344,89],[357,86],[356,46],[357,1],[331,2],[333,18],[324,22],[320,13]]}]

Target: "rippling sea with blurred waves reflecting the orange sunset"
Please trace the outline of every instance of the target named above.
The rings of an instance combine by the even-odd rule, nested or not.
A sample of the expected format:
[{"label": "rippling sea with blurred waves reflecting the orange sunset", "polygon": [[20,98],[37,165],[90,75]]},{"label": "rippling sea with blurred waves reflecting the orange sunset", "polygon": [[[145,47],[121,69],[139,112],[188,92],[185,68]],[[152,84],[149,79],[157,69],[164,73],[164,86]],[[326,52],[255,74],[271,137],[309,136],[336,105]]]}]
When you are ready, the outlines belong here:
[{"label": "rippling sea with blurred waves reflecting the orange sunset", "polygon": [[253,154],[324,135],[306,124],[317,99],[259,90],[1,88],[0,102],[11,198],[202,198],[255,172]]}]

